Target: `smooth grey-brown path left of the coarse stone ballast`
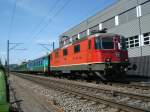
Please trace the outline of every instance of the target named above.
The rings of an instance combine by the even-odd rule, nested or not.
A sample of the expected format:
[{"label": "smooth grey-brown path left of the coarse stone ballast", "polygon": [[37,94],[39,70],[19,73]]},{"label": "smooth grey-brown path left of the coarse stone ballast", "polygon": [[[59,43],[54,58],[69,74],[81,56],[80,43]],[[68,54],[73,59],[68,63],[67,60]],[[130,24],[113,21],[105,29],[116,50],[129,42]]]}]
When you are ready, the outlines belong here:
[{"label": "smooth grey-brown path left of the coarse stone ballast", "polygon": [[[23,112],[58,112],[58,107],[55,107],[53,103],[48,101],[45,97],[33,92],[28,86],[30,84],[22,81],[16,76],[10,76],[10,84],[13,92],[11,91],[11,102],[19,101],[14,107],[21,108]],[[30,86],[31,87],[31,86]],[[14,92],[17,99],[14,98]]]}]

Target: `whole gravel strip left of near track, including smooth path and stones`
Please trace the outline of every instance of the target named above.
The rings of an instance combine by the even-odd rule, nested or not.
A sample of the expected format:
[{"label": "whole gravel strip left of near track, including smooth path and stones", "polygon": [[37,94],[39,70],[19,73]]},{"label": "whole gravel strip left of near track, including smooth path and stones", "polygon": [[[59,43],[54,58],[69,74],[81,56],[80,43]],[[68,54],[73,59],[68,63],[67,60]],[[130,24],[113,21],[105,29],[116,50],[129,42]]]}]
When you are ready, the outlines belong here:
[{"label": "whole gravel strip left of near track, including smooth path and stones", "polygon": [[23,112],[117,112],[118,109],[87,101],[77,96],[47,89],[31,81],[11,75],[16,96],[22,99]]}]

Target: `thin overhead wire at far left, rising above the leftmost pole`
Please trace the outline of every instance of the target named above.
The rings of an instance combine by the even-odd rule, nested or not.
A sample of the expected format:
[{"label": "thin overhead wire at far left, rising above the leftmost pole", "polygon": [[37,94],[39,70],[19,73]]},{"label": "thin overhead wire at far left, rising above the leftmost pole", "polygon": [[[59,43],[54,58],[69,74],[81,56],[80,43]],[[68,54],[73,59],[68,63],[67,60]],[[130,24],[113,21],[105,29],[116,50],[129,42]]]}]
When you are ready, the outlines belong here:
[{"label": "thin overhead wire at far left, rising above the leftmost pole", "polygon": [[8,40],[11,38],[11,34],[12,34],[13,23],[14,23],[14,18],[15,18],[15,13],[16,13],[16,7],[17,7],[17,2],[18,2],[18,0],[15,0],[14,6],[13,6],[13,9],[12,9],[12,15],[10,16],[10,24],[9,24],[9,31],[8,31]]}]

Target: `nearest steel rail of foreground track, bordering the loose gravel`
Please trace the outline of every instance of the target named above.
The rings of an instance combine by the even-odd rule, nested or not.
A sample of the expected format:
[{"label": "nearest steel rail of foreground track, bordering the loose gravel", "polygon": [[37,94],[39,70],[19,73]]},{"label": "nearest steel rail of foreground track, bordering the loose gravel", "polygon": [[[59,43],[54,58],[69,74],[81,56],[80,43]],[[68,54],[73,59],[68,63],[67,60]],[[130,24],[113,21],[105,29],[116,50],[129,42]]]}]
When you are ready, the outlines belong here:
[{"label": "nearest steel rail of foreground track, bordering the loose gravel", "polygon": [[123,104],[121,102],[116,102],[114,100],[109,100],[109,99],[105,99],[105,98],[102,98],[98,95],[92,95],[92,94],[88,94],[88,92],[81,92],[81,91],[78,91],[77,89],[70,89],[70,88],[67,88],[67,87],[61,87],[59,86],[58,84],[49,84],[48,82],[44,82],[40,79],[37,79],[35,77],[32,76],[23,76],[23,75],[17,75],[19,77],[22,77],[22,78],[25,78],[27,80],[30,80],[30,81],[33,81],[35,83],[38,83],[38,84],[41,84],[47,88],[52,88],[52,89],[60,89],[61,91],[65,91],[65,92],[68,92],[68,93],[71,93],[71,94],[74,94],[74,95],[78,95],[78,96],[81,96],[81,97],[84,97],[86,99],[89,99],[89,100],[92,100],[92,101],[95,101],[95,102],[99,102],[99,103],[104,103],[106,105],[110,105],[110,106],[113,106],[113,107],[117,107],[118,109],[120,110],[124,110],[124,111],[128,111],[128,112],[150,112],[149,110],[145,110],[145,109],[142,109],[142,108],[137,108],[137,107],[134,107],[134,106],[130,106],[130,105],[126,105],[126,104]]}]

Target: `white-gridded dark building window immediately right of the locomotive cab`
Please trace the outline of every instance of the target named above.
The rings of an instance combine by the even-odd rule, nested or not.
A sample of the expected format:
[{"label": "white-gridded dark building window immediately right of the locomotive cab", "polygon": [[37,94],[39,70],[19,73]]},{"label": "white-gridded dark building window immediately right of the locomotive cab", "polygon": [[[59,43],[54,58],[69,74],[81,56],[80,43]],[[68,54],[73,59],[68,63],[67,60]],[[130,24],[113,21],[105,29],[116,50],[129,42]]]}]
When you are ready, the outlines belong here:
[{"label": "white-gridded dark building window immediately right of the locomotive cab", "polygon": [[127,48],[138,47],[140,45],[138,35],[126,38],[126,45]]}]

